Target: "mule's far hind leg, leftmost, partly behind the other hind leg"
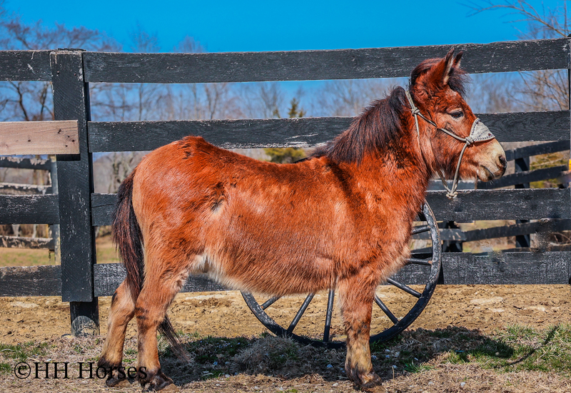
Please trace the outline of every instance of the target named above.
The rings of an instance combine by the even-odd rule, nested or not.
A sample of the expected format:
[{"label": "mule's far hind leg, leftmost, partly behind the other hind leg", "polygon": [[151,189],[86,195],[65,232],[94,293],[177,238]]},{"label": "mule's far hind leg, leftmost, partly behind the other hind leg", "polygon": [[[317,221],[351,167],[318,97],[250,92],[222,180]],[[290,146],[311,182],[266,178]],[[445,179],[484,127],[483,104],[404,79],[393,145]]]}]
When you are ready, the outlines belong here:
[{"label": "mule's far hind leg, leftmost, partly behind the other hind leg", "polygon": [[125,332],[133,315],[135,315],[135,302],[133,302],[127,280],[124,280],[113,293],[107,323],[107,336],[101,357],[97,362],[98,367],[104,367],[108,370],[106,383],[109,387],[122,384],[126,380],[126,375],[124,372],[120,372],[120,367],[122,366]]}]

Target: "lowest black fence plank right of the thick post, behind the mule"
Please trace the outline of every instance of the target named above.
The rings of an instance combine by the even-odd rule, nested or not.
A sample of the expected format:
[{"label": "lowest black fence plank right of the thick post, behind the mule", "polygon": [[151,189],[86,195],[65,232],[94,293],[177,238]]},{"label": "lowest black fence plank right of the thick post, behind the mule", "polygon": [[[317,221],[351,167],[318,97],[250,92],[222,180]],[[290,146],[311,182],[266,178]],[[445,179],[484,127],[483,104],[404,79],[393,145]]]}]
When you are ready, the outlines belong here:
[{"label": "lowest black fence plank right of the thick post, behind the mule", "polygon": [[[470,284],[567,284],[571,252],[495,252],[475,255],[466,252],[443,254],[444,283]],[[111,296],[125,279],[125,268],[120,263],[94,266],[95,295]],[[423,285],[428,278],[428,267],[408,265],[394,276],[408,285]],[[226,287],[206,275],[188,277],[181,292],[224,291]]]}]

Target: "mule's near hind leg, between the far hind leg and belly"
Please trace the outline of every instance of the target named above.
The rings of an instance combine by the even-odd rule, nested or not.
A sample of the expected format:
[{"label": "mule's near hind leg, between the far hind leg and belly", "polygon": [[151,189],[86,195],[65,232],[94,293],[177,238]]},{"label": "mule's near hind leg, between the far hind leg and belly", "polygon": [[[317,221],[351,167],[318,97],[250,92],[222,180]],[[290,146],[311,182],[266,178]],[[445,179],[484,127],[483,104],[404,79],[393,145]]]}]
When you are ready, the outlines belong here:
[{"label": "mule's near hind leg, between the far hind leg and belly", "polygon": [[168,251],[159,252],[156,249],[146,253],[145,280],[135,305],[138,329],[137,379],[148,390],[161,390],[169,385],[176,389],[172,379],[161,371],[156,335],[159,325],[166,317],[168,306],[186,281],[188,264],[185,257],[167,253]]}]

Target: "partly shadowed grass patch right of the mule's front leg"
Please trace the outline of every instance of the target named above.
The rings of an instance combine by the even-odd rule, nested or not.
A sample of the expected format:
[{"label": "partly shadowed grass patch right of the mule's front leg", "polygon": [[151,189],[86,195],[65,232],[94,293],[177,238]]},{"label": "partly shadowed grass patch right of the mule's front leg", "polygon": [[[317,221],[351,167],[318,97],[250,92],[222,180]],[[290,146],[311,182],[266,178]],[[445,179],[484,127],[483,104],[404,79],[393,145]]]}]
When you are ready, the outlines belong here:
[{"label": "partly shadowed grass patch right of the mule's front leg", "polygon": [[476,362],[498,372],[557,372],[571,377],[571,325],[546,330],[511,325],[492,335],[463,327],[418,329],[372,344],[371,353],[380,369],[394,365],[395,370],[409,373],[431,369],[439,359],[450,364]]}]

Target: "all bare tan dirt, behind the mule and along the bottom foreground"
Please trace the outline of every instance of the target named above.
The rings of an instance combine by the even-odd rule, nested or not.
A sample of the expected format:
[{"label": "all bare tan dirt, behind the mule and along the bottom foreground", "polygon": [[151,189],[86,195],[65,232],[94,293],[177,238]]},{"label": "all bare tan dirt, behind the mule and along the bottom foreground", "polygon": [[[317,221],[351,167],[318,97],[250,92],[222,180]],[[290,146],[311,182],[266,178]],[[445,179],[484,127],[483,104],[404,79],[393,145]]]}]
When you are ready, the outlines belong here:
[{"label": "all bare tan dirt, behind the mule and along the bottom foreground", "polygon": [[[420,288],[416,288],[417,290]],[[395,289],[379,287],[379,297],[397,317],[408,312],[415,298]],[[261,301],[266,299],[260,299]],[[106,322],[111,298],[99,300],[101,335],[106,333]],[[282,326],[287,327],[303,297],[278,300],[267,312]],[[300,320],[295,333],[317,337],[323,333],[326,293],[315,295],[313,302]],[[89,347],[89,353],[81,361],[94,361],[101,350],[98,337],[78,339],[69,335],[69,305],[57,297],[0,297],[0,342],[49,342],[61,350],[60,356],[83,353],[78,348]],[[374,306],[372,331],[388,326],[388,318]],[[183,293],[176,297],[170,310],[171,320],[177,330],[197,333],[201,336],[238,337],[259,336],[266,332],[256,317],[248,310],[240,292]],[[571,292],[568,285],[440,285],[425,311],[410,329],[423,327],[428,330],[446,328],[449,325],[468,330],[493,332],[507,325],[524,324],[538,329],[548,325],[571,323]],[[333,317],[332,334],[343,340],[337,313]],[[102,337],[101,337],[102,338]],[[131,354],[136,354],[136,331],[133,322],[127,333]],[[69,347],[71,349],[65,349]],[[63,348],[63,349],[61,349]],[[74,352],[75,351],[75,352]],[[286,378],[272,374],[226,375],[200,381],[181,382],[182,392],[355,392],[340,371],[343,354],[336,355],[339,364],[337,377],[323,374],[301,374]],[[56,359],[54,355],[50,355]],[[79,359],[79,358],[78,358]],[[134,360],[134,359],[133,359]],[[74,361],[74,359],[71,359]],[[518,372],[502,374],[482,369],[475,364],[439,363],[434,369],[417,374],[384,374],[388,392],[561,392],[571,393],[571,382],[557,373]],[[329,366],[328,366],[329,367]],[[2,379],[2,378],[0,378]],[[35,380],[16,379],[13,375],[0,380],[0,392],[141,392],[138,385],[123,389],[107,389],[102,381],[88,380]]]}]

